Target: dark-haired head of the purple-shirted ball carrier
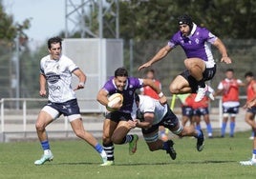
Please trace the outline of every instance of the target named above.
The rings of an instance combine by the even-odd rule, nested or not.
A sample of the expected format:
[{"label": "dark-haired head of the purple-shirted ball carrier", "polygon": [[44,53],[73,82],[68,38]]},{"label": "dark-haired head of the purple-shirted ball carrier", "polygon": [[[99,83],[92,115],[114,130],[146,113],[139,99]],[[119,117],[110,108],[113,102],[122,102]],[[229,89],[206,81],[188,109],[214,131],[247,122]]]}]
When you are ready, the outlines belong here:
[{"label": "dark-haired head of the purple-shirted ball carrier", "polygon": [[117,86],[118,90],[123,90],[128,78],[128,71],[124,68],[118,68],[115,70],[115,85]]}]

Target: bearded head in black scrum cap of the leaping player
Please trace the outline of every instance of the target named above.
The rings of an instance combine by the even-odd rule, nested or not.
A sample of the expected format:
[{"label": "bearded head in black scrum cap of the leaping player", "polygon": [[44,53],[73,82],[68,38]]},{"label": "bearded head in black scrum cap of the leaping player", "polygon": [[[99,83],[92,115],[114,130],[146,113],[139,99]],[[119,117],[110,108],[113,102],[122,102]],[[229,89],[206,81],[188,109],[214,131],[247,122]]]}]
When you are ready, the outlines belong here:
[{"label": "bearded head in black scrum cap of the leaping player", "polygon": [[187,14],[178,17],[178,24],[183,36],[188,36],[193,28],[193,21]]}]

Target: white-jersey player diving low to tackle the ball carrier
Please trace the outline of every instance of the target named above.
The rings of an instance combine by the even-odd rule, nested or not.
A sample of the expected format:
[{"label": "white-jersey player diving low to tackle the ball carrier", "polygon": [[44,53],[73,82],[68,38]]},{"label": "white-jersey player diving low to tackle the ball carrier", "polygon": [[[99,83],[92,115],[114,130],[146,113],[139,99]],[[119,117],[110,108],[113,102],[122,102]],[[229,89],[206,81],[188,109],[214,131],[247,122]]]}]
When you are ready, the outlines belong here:
[{"label": "white-jersey player diving low to tackle the ball carrier", "polygon": [[[144,95],[137,95],[136,104],[138,107],[137,119],[134,120],[135,124],[131,123],[131,126],[134,125],[135,127],[141,128],[144,140],[151,151],[165,149],[168,143],[173,144],[171,140],[169,140],[168,143],[164,143],[160,140],[160,126],[170,129],[174,134],[181,137],[196,137],[198,139],[198,151],[203,150],[203,131],[194,129],[193,127],[182,127],[180,120],[167,104],[162,106],[157,100]],[[175,150],[169,154],[173,160],[176,158]]]}]

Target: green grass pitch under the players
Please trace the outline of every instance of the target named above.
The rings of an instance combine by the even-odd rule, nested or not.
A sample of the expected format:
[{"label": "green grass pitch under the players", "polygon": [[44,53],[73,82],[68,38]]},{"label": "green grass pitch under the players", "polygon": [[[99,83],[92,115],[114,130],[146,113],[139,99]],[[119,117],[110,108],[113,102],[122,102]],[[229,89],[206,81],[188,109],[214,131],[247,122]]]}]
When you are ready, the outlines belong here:
[{"label": "green grass pitch under the players", "polygon": [[38,142],[0,144],[0,178],[255,178],[256,167],[239,164],[251,157],[249,135],[205,139],[202,152],[196,150],[195,139],[174,138],[174,161],[163,150],[149,151],[140,138],[135,155],[128,154],[128,145],[116,146],[116,165],[111,167],[99,167],[100,157],[81,140],[51,142],[54,159],[43,166],[33,165],[42,154]]}]

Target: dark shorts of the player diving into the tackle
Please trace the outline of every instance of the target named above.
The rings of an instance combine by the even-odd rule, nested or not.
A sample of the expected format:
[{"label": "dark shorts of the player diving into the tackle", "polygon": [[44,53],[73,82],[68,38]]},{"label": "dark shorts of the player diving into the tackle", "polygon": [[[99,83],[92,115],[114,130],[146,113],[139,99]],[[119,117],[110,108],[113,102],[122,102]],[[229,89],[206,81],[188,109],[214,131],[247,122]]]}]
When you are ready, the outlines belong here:
[{"label": "dark shorts of the player diving into the tackle", "polygon": [[152,133],[153,131],[156,131],[157,129],[159,129],[160,126],[163,126],[164,128],[171,130],[177,127],[178,124],[179,124],[178,117],[172,112],[171,109],[169,109],[169,106],[168,106],[167,113],[161,119],[160,123],[152,126],[149,129],[142,129],[142,133],[143,134]]}]

